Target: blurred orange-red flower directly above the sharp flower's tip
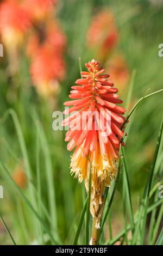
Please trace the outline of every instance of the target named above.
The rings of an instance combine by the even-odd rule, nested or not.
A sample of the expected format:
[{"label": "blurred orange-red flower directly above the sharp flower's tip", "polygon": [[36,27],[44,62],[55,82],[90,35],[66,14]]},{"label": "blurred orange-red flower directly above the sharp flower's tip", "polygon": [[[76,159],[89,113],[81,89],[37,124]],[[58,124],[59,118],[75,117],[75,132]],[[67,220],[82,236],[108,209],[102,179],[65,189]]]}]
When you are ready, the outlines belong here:
[{"label": "blurred orange-red flower directly above the sharp flower's tip", "polygon": [[114,15],[110,10],[104,9],[97,13],[87,32],[87,46],[98,50],[98,57],[105,57],[116,45],[118,31]]}]

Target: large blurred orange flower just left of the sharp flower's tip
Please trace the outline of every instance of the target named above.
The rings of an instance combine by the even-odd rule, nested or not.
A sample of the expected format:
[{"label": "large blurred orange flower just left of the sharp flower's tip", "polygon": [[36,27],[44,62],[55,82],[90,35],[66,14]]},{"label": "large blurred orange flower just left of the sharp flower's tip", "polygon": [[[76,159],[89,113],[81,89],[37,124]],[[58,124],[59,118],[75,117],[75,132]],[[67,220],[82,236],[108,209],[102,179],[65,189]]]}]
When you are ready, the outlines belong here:
[{"label": "large blurred orange flower just left of the sharp flower's tip", "polygon": [[48,22],[29,39],[30,72],[37,91],[43,96],[57,94],[59,81],[65,76],[65,45],[66,37],[57,21]]}]

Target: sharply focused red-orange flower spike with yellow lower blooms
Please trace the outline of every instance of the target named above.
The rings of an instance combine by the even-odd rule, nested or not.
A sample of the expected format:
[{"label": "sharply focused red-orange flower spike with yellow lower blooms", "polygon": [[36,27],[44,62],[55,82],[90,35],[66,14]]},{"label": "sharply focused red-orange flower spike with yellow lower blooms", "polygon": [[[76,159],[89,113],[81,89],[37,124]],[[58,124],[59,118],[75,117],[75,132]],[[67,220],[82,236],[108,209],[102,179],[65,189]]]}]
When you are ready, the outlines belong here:
[{"label": "sharply focused red-orange flower spike with yellow lower blooms", "polygon": [[73,100],[64,103],[73,106],[64,114],[77,113],[63,120],[62,125],[70,126],[65,139],[69,141],[67,149],[71,151],[77,146],[71,159],[71,173],[79,182],[85,180],[87,192],[91,161],[90,211],[98,229],[104,189],[110,186],[117,173],[118,149],[124,132],[120,128],[126,109],[116,105],[122,103],[116,94],[118,89],[112,88],[110,75],[103,74],[105,70],[100,63],[92,60],[85,66],[88,71],[81,72],[84,78],[76,81],[77,86],[72,86],[70,97]]}]

